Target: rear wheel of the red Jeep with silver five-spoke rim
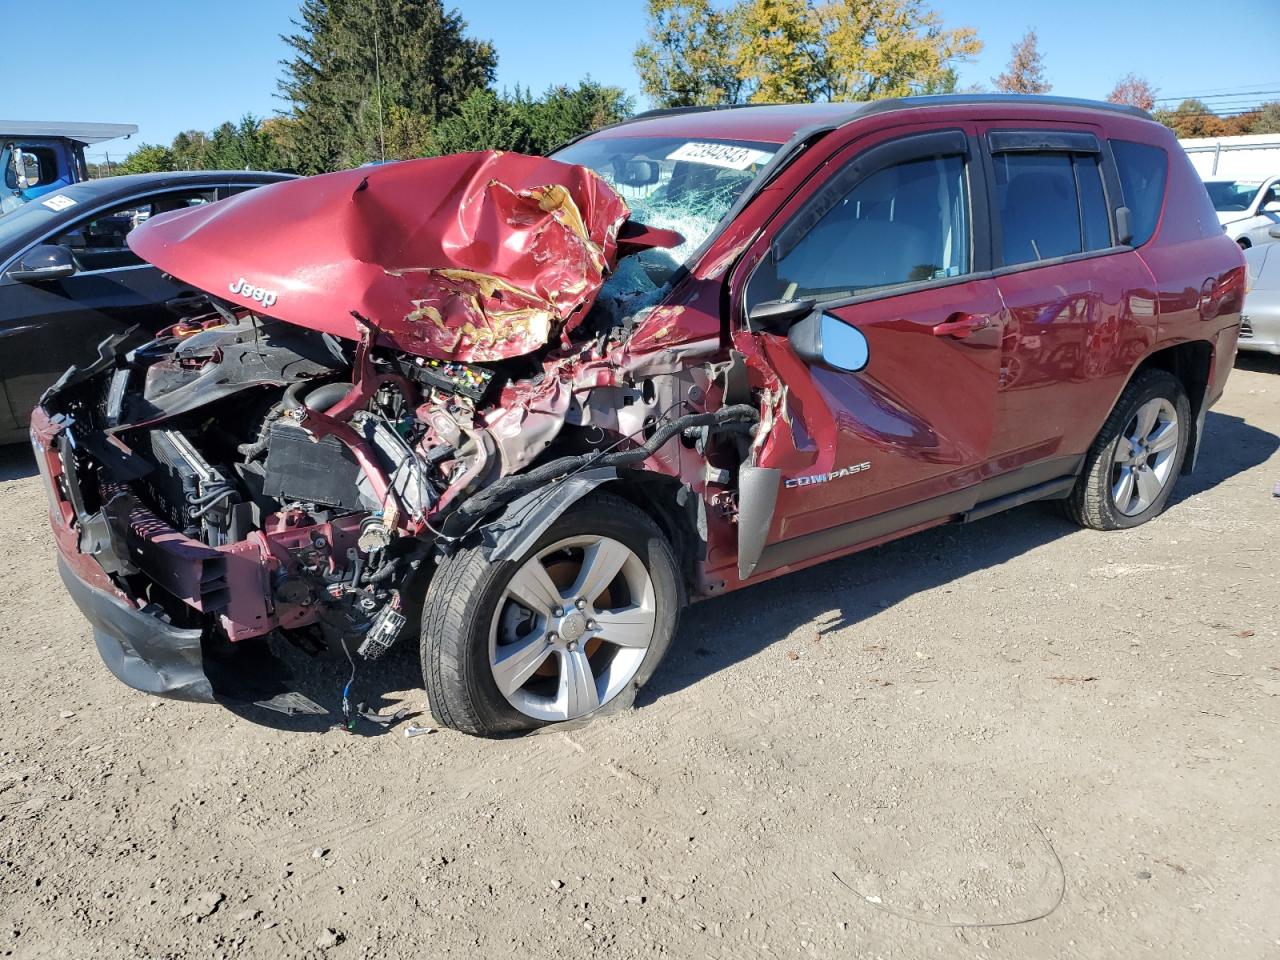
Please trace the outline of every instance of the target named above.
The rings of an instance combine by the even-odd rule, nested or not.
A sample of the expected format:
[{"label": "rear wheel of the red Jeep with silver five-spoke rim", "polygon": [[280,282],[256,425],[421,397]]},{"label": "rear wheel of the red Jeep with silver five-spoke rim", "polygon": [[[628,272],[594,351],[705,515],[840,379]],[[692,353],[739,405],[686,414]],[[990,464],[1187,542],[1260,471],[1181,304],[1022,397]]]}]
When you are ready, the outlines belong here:
[{"label": "rear wheel of the red Jeep with silver five-spoke rim", "polygon": [[1160,513],[1174,492],[1190,436],[1190,402],[1166,370],[1129,383],[1084,461],[1066,502],[1082,526],[1123,530]]}]

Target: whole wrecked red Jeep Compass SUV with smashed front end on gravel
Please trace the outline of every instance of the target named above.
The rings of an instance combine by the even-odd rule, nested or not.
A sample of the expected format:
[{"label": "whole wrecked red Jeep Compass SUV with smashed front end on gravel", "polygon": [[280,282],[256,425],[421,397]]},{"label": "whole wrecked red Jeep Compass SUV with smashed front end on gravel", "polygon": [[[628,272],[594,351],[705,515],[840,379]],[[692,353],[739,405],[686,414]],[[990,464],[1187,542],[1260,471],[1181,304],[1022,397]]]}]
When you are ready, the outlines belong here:
[{"label": "whole wrecked red Jeep Compass SUV with smashed front end on gravel", "polygon": [[1029,500],[1151,520],[1245,276],[1170,131],[1057,97],[657,111],[129,243],[205,306],[32,421],[106,664],[324,710],[287,646],[355,680],[416,632],[483,735],[628,703],[687,599]]}]

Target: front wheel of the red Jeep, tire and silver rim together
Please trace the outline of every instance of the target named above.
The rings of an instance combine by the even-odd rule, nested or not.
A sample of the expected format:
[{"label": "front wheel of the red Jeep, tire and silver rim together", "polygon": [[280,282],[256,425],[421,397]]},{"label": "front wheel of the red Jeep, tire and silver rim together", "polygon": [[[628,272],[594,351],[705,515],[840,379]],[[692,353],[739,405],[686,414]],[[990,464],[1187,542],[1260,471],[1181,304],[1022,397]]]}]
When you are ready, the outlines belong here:
[{"label": "front wheel of the red Jeep, tire and silver rim together", "polygon": [[518,561],[466,547],[426,594],[431,716],[481,736],[588,717],[649,678],[681,599],[662,531],[609,494],[573,504]]}]

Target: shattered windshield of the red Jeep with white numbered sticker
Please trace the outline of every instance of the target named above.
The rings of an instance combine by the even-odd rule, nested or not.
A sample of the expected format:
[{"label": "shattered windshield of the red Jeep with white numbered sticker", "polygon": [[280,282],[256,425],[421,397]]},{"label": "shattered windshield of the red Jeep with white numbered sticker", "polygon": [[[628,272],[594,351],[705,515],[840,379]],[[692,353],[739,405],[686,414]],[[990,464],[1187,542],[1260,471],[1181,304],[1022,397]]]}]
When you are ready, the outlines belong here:
[{"label": "shattered windshield of the red Jeep with white numbered sticker", "polygon": [[620,274],[643,271],[636,279],[660,287],[710,236],[777,150],[777,143],[741,140],[589,137],[552,159],[589,166],[627,201],[632,220],[685,238],[678,247],[648,250],[618,265]]}]

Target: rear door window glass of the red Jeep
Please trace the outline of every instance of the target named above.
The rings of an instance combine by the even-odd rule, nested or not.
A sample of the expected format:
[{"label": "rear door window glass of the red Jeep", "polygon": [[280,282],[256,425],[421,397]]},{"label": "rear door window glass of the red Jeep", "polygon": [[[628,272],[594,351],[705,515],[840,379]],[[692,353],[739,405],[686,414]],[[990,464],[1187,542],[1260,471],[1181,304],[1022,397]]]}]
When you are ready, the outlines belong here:
[{"label": "rear door window glass of the red Jeep", "polygon": [[1097,156],[1016,151],[992,161],[1006,266],[1111,246]]}]

